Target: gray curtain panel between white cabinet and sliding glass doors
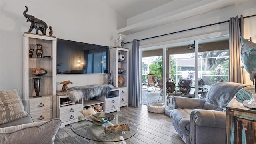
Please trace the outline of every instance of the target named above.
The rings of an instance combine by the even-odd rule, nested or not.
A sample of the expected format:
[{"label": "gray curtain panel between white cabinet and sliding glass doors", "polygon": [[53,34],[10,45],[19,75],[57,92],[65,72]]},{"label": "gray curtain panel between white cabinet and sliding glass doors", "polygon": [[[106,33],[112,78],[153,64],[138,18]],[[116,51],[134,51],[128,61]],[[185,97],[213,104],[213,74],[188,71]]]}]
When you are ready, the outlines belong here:
[{"label": "gray curtain panel between white cabinet and sliding glass doors", "polygon": [[132,66],[129,82],[129,105],[140,106],[140,69],[139,69],[139,42],[132,42]]}]

